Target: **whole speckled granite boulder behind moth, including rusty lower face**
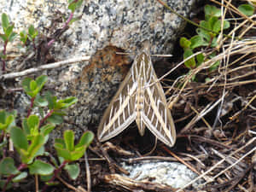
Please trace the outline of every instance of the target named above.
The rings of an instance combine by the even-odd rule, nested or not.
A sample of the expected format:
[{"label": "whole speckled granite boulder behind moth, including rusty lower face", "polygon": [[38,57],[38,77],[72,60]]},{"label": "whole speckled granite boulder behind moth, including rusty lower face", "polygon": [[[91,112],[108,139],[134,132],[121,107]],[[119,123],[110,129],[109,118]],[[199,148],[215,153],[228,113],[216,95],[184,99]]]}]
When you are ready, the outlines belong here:
[{"label": "whole speckled granite boulder behind moth, including rusty lower face", "polygon": [[[168,0],[166,3],[179,14],[188,16],[195,1]],[[16,32],[33,24],[46,37],[51,37],[63,26],[61,16],[67,18],[69,15],[67,0],[0,0],[0,9],[15,23]],[[50,49],[55,61],[97,55],[98,50],[106,49],[109,45],[134,52],[139,42],[146,38],[150,39],[152,53],[170,54],[185,24],[155,0],[88,0],[84,1],[75,16],[80,16],[80,20],[74,21]],[[98,124],[124,77],[122,66],[126,67],[129,59],[112,65],[110,62],[113,59],[104,60],[103,57],[108,58],[108,51],[96,56],[99,61],[92,57],[90,62],[44,72],[49,75],[49,84],[59,96],[79,98],[79,103],[68,112],[68,120],[81,128],[74,129],[77,133]],[[95,62],[102,64],[97,66],[93,64]],[[90,73],[87,73],[87,66],[92,66]],[[104,78],[104,75],[108,77]],[[60,137],[60,134],[55,137]]]}]

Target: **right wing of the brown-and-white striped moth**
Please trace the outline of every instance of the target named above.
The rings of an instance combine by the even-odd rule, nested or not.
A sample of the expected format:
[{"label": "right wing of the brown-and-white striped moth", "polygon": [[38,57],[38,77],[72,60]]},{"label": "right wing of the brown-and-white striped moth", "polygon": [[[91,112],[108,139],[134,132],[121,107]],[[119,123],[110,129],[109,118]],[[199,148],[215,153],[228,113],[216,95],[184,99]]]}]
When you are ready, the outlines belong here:
[{"label": "right wing of the brown-and-white striped moth", "polygon": [[145,76],[148,83],[144,86],[143,122],[155,137],[172,147],[176,141],[172,114],[167,107],[164,90],[160,82],[157,81],[150,58],[147,63],[145,64]]}]

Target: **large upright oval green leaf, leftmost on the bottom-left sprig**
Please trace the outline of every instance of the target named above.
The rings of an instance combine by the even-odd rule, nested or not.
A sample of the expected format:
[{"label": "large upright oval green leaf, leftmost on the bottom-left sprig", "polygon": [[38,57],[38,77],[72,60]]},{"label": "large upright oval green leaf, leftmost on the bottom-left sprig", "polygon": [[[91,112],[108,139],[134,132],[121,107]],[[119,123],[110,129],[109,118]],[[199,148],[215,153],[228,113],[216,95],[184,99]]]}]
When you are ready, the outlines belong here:
[{"label": "large upright oval green leaf, leftmost on the bottom-left sprig", "polygon": [[10,138],[12,139],[15,148],[27,150],[28,142],[26,135],[19,127],[13,126],[10,128]]}]

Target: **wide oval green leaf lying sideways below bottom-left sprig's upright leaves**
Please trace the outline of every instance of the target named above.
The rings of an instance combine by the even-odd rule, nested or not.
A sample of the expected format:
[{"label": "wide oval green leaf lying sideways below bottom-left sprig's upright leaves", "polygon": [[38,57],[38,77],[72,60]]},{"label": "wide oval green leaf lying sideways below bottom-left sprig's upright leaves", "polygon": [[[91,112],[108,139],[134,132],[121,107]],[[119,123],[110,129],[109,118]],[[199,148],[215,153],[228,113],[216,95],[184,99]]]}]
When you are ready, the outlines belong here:
[{"label": "wide oval green leaf lying sideways below bottom-left sprig's upright leaves", "polygon": [[44,162],[43,160],[35,160],[32,165],[28,166],[29,173],[34,175],[50,175],[54,172],[54,166],[51,166],[49,163]]}]

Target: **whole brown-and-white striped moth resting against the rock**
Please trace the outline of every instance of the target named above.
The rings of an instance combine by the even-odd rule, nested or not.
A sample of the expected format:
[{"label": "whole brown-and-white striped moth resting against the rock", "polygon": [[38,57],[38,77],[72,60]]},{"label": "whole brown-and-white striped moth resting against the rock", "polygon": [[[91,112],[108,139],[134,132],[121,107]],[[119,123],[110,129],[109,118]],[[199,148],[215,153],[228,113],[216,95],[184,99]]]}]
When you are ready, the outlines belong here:
[{"label": "whole brown-and-white striped moth resting against the rock", "polygon": [[117,136],[134,120],[141,136],[148,127],[161,142],[170,147],[174,145],[175,125],[164,90],[154,72],[148,40],[143,42],[143,49],[103,114],[97,130],[99,141]]}]

